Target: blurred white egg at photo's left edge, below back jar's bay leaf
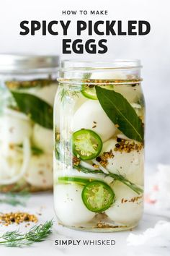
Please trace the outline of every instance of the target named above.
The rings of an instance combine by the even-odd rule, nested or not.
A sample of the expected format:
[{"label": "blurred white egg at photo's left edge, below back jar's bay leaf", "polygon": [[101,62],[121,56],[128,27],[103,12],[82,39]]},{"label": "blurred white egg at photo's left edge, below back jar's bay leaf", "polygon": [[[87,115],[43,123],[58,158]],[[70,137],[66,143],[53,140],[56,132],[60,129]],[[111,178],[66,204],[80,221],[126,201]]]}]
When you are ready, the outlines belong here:
[{"label": "blurred white egg at photo's left edge, below back jar's bay leaf", "polygon": [[22,144],[25,137],[31,136],[32,125],[29,119],[6,114],[1,118],[0,134],[0,139],[6,143]]}]

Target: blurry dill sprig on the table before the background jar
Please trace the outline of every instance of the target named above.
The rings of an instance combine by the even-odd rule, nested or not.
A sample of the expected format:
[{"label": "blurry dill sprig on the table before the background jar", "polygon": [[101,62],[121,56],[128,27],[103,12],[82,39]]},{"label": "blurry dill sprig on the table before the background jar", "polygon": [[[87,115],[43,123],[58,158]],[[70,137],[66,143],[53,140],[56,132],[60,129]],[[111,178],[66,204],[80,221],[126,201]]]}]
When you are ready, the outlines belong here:
[{"label": "blurry dill sprig on the table before the background jar", "polygon": [[2,194],[0,197],[0,203],[6,203],[8,205],[22,205],[25,206],[27,200],[30,198],[30,193],[27,191],[22,191],[19,193],[8,192],[6,194]]}]

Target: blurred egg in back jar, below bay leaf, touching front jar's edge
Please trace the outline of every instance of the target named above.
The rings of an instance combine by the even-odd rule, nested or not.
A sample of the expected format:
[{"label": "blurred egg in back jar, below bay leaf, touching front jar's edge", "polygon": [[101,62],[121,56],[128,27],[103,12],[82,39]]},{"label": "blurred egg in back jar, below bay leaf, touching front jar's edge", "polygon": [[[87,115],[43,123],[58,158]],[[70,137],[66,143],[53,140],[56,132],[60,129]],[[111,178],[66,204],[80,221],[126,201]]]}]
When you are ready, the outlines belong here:
[{"label": "blurred egg in back jar, below bay leaf, touching front jar's edge", "polygon": [[53,152],[53,130],[35,124],[32,132],[32,142],[45,153]]}]

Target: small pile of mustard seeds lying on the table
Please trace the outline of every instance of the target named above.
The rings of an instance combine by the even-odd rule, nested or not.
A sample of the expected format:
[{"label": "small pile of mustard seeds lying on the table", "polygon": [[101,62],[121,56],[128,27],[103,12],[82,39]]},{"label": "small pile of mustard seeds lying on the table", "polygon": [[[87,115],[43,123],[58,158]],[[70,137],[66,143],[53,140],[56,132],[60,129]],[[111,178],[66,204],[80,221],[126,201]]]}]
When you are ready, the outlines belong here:
[{"label": "small pile of mustard seeds lying on the table", "polygon": [[37,223],[37,217],[34,214],[29,213],[1,213],[0,223],[4,226],[9,226],[12,223],[22,223],[22,222],[35,222]]}]

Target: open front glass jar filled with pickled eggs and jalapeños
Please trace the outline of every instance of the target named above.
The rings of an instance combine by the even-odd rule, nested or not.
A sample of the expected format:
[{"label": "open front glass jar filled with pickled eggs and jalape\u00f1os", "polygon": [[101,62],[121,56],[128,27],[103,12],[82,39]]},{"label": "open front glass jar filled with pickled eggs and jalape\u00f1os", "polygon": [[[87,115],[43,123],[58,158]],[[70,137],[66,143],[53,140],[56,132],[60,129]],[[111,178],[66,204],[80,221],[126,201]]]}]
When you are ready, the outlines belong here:
[{"label": "open front glass jar filled with pickled eggs and jalape\u00f1os", "polygon": [[145,104],[140,61],[63,61],[55,96],[58,223],[122,231],[143,214]]}]

